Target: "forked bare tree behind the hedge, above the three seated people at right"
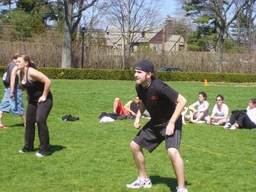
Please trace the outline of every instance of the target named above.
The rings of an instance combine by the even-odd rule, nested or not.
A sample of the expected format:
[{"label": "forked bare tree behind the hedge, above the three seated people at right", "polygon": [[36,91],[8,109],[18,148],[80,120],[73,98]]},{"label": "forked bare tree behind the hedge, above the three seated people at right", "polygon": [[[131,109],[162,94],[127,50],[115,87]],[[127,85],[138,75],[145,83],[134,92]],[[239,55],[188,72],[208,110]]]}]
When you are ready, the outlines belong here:
[{"label": "forked bare tree behind the hedge, above the three seated people at right", "polygon": [[209,0],[209,8],[214,12],[217,20],[217,45],[215,56],[214,72],[222,72],[222,58],[223,58],[223,44],[224,35],[235,19],[242,13],[245,7],[251,0],[244,0],[244,2],[236,8],[234,15],[227,21],[227,14],[231,6],[234,5],[235,0]]}]

